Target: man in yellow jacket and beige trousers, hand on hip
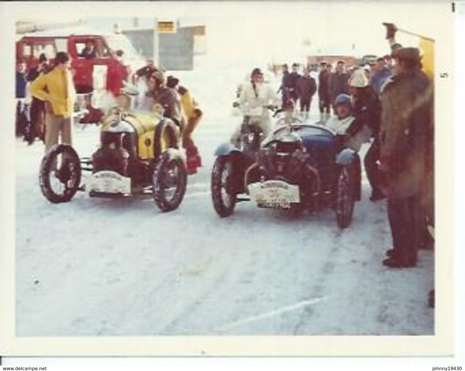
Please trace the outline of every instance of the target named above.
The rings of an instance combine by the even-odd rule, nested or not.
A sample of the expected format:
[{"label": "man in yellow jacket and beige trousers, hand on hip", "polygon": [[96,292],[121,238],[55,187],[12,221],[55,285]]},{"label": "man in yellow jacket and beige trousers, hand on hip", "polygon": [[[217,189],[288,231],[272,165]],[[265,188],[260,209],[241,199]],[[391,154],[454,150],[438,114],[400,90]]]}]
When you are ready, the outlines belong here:
[{"label": "man in yellow jacket and beige trousers, hand on hip", "polygon": [[58,143],[72,144],[72,125],[76,91],[69,71],[69,57],[59,52],[56,66],[47,74],[41,74],[29,87],[33,97],[45,101],[45,152]]}]

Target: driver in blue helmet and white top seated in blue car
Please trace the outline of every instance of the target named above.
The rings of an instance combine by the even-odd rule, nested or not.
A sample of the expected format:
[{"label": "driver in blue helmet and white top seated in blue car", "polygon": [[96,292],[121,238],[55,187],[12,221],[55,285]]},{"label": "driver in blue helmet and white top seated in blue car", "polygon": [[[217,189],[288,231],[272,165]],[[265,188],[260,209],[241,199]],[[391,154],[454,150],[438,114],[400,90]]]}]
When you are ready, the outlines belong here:
[{"label": "driver in blue helmet and white top seated in blue car", "polygon": [[349,128],[358,124],[352,115],[352,101],[347,94],[339,94],[334,100],[334,107],[336,116],[332,116],[326,122],[326,127],[340,136],[343,146],[359,152],[362,144],[370,138],[370,129],[364,125],[362,130],[353,135],[349,134]]}]

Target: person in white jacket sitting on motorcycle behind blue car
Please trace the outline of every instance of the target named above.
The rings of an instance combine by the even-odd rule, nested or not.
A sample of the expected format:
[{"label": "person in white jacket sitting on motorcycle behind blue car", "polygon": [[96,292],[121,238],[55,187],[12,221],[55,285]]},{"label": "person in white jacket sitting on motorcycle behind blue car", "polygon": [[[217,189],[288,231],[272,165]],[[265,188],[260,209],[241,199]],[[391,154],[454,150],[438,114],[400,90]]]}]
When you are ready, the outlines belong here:
[{"label": "person in white jacket sitting on motorcycle behind blue car", "polygon": [[[240,92],[239,105],[244,116],[249,116],[249,123],[257,125],[266,138],[272,132],[272,124],[269,107],[277,106],[279,96],[263,81],[263,73],[259,68],[254,68],[250,84],[244,86]],[[239,145],[241,125],[234,131],[231,143]]]}]

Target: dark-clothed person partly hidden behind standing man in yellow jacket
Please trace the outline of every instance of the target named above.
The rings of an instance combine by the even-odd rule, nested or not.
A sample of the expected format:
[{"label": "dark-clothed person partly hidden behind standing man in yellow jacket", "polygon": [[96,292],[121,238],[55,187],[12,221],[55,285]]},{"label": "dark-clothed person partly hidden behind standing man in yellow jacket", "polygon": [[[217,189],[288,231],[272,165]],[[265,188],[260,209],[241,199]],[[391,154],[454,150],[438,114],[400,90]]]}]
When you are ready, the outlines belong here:
[{"label": "dark-clothed person partly hidden behind standing man in yellow jacket", "polygon": [[[49,69],[47,57],[42,53],[39,56],[39,64],[27,72],[26,80],[33,82],[41,73],[47,73]],[[45,102],[33,96],[30,114],[31,122],[25,140],[29,145],[32,145],[36,137],[39,137],[42,141],[45,140]]]}]

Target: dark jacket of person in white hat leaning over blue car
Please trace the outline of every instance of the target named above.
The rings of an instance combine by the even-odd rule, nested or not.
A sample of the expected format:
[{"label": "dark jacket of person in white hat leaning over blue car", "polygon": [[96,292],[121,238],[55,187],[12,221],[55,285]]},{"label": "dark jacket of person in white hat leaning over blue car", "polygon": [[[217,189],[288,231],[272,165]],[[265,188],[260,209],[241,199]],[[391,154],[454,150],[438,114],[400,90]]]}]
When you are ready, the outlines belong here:
[{"label": "dark jacket of person in white hat leaning over blue car", "polygon": [[350,134],[355,135],[367,126],[373,137],[379,135],[381,120],[381,102],[371,87],[357,88],[357,94],[353,96],[352,114],[357,118],[357,125],[350,129]]}]

